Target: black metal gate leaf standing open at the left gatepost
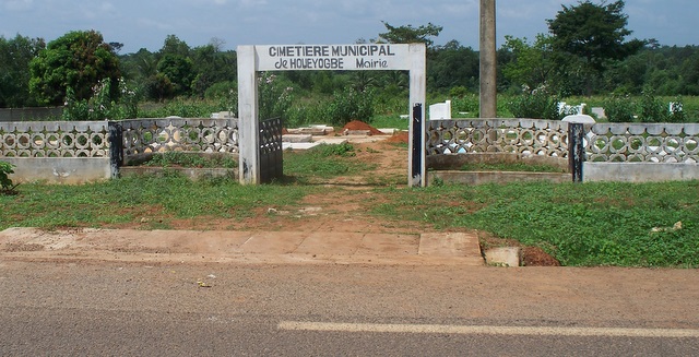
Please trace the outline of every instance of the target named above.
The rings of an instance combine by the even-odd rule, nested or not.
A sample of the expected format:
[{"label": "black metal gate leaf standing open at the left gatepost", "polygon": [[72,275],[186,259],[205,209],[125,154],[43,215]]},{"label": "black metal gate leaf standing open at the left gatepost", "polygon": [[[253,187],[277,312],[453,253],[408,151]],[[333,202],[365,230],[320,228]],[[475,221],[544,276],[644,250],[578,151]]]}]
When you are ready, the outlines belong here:
[{"label": "black metal gate leaf standing open at the left gatepost", "polygon": [[282,118],[260,121],[260,181],[269,183],[284,176]]}]

